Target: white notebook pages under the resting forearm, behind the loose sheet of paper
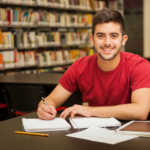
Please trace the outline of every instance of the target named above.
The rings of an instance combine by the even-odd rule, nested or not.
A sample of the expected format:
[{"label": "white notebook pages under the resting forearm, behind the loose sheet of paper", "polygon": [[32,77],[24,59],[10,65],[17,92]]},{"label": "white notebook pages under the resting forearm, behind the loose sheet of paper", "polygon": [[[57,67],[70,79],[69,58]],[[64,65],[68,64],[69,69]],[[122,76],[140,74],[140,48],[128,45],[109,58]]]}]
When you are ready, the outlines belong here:
[{"label": "white notebook pages under the resting forearm, behind the loose sheet of paper", "polygon": [[79,128],[88,128],[91,126],[97,127],[115,127],[121,126],[121,122],[119,122],[115,118],[98,118],[98,117],[80,117],[75,116],[73,119],[69,119],[74,129]]}]

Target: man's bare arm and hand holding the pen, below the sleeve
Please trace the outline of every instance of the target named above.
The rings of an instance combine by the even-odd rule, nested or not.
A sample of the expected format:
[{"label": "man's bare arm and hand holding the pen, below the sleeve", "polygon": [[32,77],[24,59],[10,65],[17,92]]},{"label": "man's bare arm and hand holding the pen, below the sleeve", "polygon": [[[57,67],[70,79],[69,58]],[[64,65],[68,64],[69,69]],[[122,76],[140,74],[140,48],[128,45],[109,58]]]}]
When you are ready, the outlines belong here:
[{"label": "man's bare arm and hand holding the pen, below the sleeve", "polygon": [[37,115],[40,119],[51,120],[56,116],[56,108],[62,105],[70,96],[71,92],[67,91],[61,84],[45,98],[49,108],[41,100],[38,105]]}]

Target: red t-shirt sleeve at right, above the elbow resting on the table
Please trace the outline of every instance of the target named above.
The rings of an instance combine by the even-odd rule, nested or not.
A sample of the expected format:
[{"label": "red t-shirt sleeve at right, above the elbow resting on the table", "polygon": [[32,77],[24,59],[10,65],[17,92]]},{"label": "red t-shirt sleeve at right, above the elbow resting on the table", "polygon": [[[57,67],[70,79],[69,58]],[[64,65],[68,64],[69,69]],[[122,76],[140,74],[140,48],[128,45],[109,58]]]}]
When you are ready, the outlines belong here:
[{"label": "red t-shirt sleeve at right, above the elbow resting on the table", "polygon": [[139,62],[131,71],[132,92],[140,88],[150,88],[150,64],[146,60]]}]

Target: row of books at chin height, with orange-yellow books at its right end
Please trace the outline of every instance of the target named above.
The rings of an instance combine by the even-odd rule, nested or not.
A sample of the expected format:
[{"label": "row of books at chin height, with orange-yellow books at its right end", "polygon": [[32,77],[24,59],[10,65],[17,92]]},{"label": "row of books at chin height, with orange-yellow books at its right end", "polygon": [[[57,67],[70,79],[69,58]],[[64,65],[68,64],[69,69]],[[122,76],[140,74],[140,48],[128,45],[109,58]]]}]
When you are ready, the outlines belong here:
[{"label": "row of books at chin height, with orange-yellow books at its right end", "polygon": [[[92,49],[90,54],[94,53]],[[0,52],[0,68],[14,68],[22,66],[50,66],[73,63],[79,58],[88,55],[88,51],[74,50],[57,50],[57,51],[22,51],[17,50]]]}]

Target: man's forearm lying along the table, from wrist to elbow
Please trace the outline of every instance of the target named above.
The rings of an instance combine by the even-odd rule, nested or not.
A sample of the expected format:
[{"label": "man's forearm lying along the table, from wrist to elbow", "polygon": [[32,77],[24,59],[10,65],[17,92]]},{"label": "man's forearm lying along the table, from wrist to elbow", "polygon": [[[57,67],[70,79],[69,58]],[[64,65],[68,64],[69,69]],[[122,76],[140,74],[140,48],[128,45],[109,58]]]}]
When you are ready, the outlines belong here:
[{"label": "man's forearm lying along the table, from wrist to elbow", "polygon": [[146,120],[148,109],[140,107],[136,103],[122,104],[116,106],[91,107],[92,116],[96,117],[114,117],[122,120]]}]

